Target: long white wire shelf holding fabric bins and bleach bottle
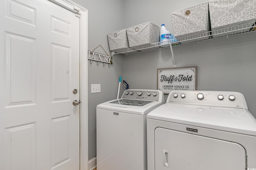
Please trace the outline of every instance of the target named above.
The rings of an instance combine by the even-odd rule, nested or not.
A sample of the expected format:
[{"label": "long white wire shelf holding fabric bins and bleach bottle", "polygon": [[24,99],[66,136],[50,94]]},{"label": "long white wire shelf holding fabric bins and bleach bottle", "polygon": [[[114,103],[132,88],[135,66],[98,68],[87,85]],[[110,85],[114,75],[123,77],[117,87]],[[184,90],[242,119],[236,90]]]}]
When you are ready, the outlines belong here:
[{"label": "long white wire shelf holding fabric bins and bleach bottle", "polygon": [[247,32],[254,32],[255,30],[256,30],[256,22],[249,22],[249,23],[240,24],[237,26],[230,26],[227,28],[222,28],[219,30],[212,30],[209,32],[202,32],[200,34],[195,34],[195,35],[191,35],[191,36],[185,36],[182,38],[172,39],[172,40],[169,40],[168,42],[164,42],[164,43],[157,42],[157,43],[152,43],[149,45],[143,45],[143,46],[139,46],[139,47],[133,47],[133,48],[123,49],[123,50],[118,50],[118,51],[112,51],[112,55],[115,55],[115,54],[129,55],[129,54],[134,54],[134,53],[141,53],[144,51],[152,51],[152,50],[156,50],[156,49],[170,47],[170,44],[172,46],[184,45],[184,44],[188,44],[188,43],[201,42],[201,41],[206,41],[206,40],[211,40],[211,39],[216,39],[216,38],[221,38],[221,37],[226,37],[226,36],[243,34],[243,33],[247,33]]}]

